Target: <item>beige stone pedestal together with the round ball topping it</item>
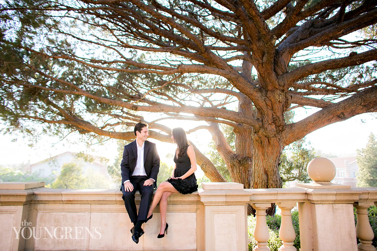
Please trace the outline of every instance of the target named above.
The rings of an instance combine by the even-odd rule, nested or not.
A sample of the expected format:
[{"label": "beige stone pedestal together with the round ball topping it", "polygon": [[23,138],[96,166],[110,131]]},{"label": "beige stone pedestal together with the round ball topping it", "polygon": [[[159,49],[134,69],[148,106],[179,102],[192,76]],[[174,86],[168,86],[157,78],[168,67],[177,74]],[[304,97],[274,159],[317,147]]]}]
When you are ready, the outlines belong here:
[{"label": "beige stone pedestal together with the round ball topping it", "polygon": [[331,161],[315,158],[308,164],[308,174],[314,182],[297,184],[307,188],[309,201],[299,203],[302,250],[357,251],[352,204],[359,200],[360,192],[331,183],[334,170]]}]

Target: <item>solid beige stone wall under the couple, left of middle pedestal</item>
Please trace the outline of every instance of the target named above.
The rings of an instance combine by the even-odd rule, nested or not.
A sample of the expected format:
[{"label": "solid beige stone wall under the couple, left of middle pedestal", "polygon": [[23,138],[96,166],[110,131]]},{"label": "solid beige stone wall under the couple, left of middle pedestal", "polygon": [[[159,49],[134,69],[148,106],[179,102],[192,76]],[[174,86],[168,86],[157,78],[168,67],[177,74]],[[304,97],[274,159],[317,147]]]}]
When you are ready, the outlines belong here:
[{"label": "solid beige stone wall under the couple, left of middle pedestal", "polygon": [[[16,202],[27,194],[32,195],[30,200]],[[131,239],[133,224],[121,195],[118,190],[3,189],[0,250],[203,250],[203,231],[197,226],[203,225],[204,207],[197,192],[170,196],[170,224],[163,239],[156,238],[160,224],[156,208],[153,218],[143,224],[145,234],[138,244]],[[137,193],[137,207],[139,201]]]}]

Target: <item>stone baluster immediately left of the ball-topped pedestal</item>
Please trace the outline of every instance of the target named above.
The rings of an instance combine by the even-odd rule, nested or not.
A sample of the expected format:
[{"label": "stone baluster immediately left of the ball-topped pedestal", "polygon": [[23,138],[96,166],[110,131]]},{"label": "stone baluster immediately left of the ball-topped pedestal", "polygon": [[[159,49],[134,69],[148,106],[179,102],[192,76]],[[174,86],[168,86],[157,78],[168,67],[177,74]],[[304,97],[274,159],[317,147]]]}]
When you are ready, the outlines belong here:
[{"label": "stone baluster immediately left of the ball-topped pedestal", "polygon": [[282,222],[279,230],[279,237],[283,242],[277,250],[279,251],[296,251],[293,246],[296,233],[294,232],[292,224],[292,208],[296,206],[296,203],[277,203],[278,207],[282,210]]}]

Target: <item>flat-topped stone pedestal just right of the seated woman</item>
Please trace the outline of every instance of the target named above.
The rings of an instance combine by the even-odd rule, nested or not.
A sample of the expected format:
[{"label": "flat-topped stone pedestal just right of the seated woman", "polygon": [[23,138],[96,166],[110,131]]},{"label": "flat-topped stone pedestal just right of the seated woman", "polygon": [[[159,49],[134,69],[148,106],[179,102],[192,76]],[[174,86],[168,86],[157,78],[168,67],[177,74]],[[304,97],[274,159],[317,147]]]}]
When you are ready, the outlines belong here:
[{"label": "flat-topped stone pedestal just right of the seated woman", "polygon": [[246,203],[250,193],[238,183],[202,183],[202,187],[198,194],[205,210],[205,250],[248,250]]}]

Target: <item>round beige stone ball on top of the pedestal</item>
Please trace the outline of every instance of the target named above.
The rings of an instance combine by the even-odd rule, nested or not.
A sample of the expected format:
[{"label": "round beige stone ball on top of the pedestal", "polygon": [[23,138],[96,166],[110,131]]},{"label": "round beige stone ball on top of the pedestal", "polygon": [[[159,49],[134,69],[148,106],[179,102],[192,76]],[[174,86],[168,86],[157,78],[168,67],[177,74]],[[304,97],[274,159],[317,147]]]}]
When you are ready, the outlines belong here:
[{"label": "round beige stone ball on top of the pedestal", "polygon": [[336,168],[331,160],[319,157],[308,163],[307,172],[313,181],[330,182],[335,177]]}]

